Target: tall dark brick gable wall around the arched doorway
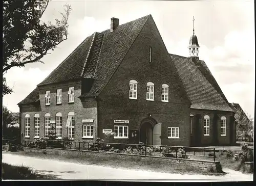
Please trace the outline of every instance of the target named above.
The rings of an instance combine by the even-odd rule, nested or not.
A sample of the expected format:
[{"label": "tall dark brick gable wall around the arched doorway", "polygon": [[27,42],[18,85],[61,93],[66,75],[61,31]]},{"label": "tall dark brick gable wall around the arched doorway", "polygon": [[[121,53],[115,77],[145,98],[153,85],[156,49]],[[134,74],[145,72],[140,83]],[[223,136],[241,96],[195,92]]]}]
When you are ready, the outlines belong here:
[{"label": "tall dark brick gable wall around the arched doorway", "polygon": [[[150,46],[152,47],[152,63],[149,63]],[[129,99],[131,79],[138,82],[137,100]],[[147,82],[155,84],[154,101],[146,100]],[[162,84],[169,86],[169,102],[161,101]],[[102,129],[113,130],[114,120],[129,120],[129,129],[139,130],[141,121],[151,114],[157,123],[162,123],[162,145],[188,146],[190,140],[189,107],[190,103],[179,76],[170,62],[157,27],[150,18],[99,96],[98,135],[104,138]],[[180,127],[179,139],[167,138],[168,126]],[[138,143],[139,137],[137,139],[113,139],[112,142]]]}]

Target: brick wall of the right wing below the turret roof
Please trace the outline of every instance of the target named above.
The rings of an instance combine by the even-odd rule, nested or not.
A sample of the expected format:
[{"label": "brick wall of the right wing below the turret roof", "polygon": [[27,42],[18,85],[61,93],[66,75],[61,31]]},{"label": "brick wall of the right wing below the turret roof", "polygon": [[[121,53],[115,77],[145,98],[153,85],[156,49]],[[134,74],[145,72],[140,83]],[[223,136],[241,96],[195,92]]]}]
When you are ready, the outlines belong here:
[{"label": "brick wall of the right wing below the turret roof", "polygon": [[[209,111],[209,110],[196,110],[196,109],[191,109],[191,114],[196,116],[196,114],[200,114],[202,117],[199,119],[200,122],[200,136],[196,135],[196,119],[195,117],[193,118],[193,123],[192,123],[192,135],[191,138],[200,138],[201,144],[203,145],[211,145],[213,142],[214,138],[214,113],[217,113],[219,120],[217,122],[217,134],[218,134],[218,142],[219,145],[231,145],[232,142],[230,142],[230,116],[232,116],[233,113],[231,112],[224,112],[224,111]],[[203,135],[203,129],[204,129],[204,116],[208,115],[210,117],[210,135],[209,136],[204,136]],[[226,117],[226,136],[221,136],[221,117],[225,116]],[[234,125],[234,123],[232,123]],[[234,132],[234,129],[233,129]],[[196,136],[195,136],[196,135]]]}]

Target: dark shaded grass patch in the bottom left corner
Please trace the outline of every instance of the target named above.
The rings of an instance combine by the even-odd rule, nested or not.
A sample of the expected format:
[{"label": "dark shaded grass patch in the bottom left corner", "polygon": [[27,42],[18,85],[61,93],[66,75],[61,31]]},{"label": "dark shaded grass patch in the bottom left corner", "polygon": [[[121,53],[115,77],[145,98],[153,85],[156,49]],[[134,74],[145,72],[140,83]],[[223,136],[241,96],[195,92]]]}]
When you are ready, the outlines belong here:
[{"label": "dark shaded grass patch in the bottom left corner", "polygon": [[54,175],[37,174],[30,167],[2,163],[3,179],[57,179]]}]

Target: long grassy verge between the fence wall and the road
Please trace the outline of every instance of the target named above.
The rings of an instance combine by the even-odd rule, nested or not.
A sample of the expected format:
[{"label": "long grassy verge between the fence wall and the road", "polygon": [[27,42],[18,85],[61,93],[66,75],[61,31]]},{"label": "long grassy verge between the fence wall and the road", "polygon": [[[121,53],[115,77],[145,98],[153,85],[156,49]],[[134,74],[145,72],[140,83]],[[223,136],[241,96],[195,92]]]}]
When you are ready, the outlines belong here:
[{"label": "long grassy verge between the fence wall and the road", "polygon": [[223,175],[225,173],[215,173],[211,170],[201,170],[198,167],[179,164],[172,165],[163,163],[160,160],[141,160],[135,156],[127,156],[123,158],[109,158],[98,155],[59,155],[59,154],[44,154],[37,152],[16,152],[19,155],[34,156],[39,158],[51,158],[55,160],[62,160],[66,162],[99,165],[113,168],[127,168],[133,170],[145,170],[163,173],[177,173],[177,174],[203,174],[203,175]]}]

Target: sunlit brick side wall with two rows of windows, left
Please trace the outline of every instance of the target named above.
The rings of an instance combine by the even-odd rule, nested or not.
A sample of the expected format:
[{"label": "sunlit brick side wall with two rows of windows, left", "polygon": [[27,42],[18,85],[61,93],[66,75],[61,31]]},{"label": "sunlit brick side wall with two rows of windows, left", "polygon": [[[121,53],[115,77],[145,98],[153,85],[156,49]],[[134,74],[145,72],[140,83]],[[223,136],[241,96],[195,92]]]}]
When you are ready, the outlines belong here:
[{"label": "sunlit brick side wall with two rows of windows, left", "polygon": [[[68,103],[69,87],[74,87],[74,103]],[[61,104],[56,104],[57,89],[62,89]],[[51,104],[45,105],[45,93],[50,91]],[[45,136],[45,114],[51,115],[51,120],[56,120],[55,115],[57,112],[62,114],[62,138],[68,137],[68,127],[66,127],[68,113],[70,111],[75,113],[75,141],[94,141],[96,137],[96,101],[95,99],[80,99],[81,95],[81,82],[69,82],[55,85],[46,85],[40,87],[40,106],[33,107],[32,105],[22,105],[22,132],[25,130],[25,115],[30,114],[30,138],[25,140],[34,140],[34,115],[36,113],[40,116],[40,138]],[[82,123],[82,119],[93,119],[93,123]],[[53,124],[55,127],[55,124]],[[94,139],[82,138],[82,126],[94,125]],[[24,136],[24,135],[23,135]]]}]

